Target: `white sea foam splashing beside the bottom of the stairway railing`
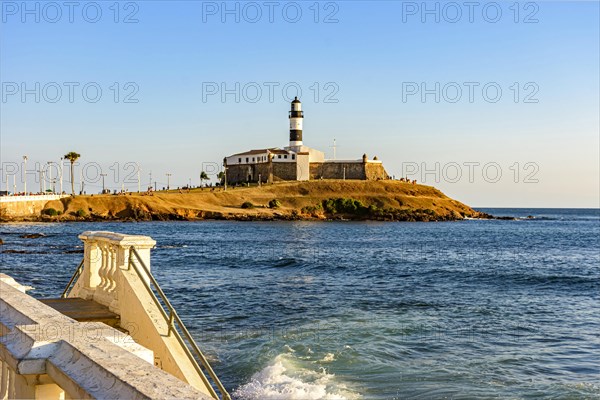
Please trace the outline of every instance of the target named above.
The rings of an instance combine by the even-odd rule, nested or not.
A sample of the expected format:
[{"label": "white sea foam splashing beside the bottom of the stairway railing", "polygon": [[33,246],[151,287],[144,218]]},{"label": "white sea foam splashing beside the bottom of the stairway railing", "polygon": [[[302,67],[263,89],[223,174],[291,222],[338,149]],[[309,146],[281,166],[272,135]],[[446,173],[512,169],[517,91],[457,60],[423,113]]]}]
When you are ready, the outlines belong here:
[{"label": "white sea foam splashing beside the bottom of the stairway railing", "polygon": [[349,391],[325,370],[313,371],[294,363],[289,354],[280,354],[255,373],[250,382],[233,393],[240,400],[344,400],[359,396]]}]

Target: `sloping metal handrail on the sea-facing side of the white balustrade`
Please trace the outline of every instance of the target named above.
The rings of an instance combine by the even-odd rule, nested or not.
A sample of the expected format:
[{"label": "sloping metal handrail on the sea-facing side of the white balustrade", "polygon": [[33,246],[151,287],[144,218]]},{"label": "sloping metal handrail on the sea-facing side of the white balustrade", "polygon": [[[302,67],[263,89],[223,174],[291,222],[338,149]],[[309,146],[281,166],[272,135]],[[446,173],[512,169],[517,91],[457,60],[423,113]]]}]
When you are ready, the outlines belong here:
[{"label": "sloping metal handrail on the sea-facing side of the white balustrade", "polygon": [[[165,306],[167,307],[167,309],[169,311],[168,315],[167,315],[167,312],[165,311],[165,309],[163,308],[162,304],[160,303],[158,297],[156,297],[156,294],[154,294],[154,291],[150,287],[150,284],[146,281],[145,277],[142,276],[142,274],[140,273],[140,270],[138,269],[138,266],[133,261],[133,258],[134,258],[133,256],[135,256],[135,258],[137,258],[137,261],[140,263],[140,266],[142,267],[142,269],[143,269],[143,271],[145,273],[145,276],[152,282],[152,284],[156,288],[156,291],[160,295],[163,303],[165,304]],[[192,363],[192,365],[196,369],[196,372],[198,372],[198,375],[200,376],[200,378],[202,379],[202,381],[204,382],[204,384],[208,388],[211,396],[213,396],[215,399],[219,398],[217,396],[217,393],[215,392],[214,388],[210,384],[210,382],[208,382],[208,379],[206,378],[206,375],[204,375],[204,372],[202,371],[202,368],[200,367],[200,365],[198,365],[198,362],[196,361],[196,358],[194,357],[194,354],[200,360],[200,363],[202,364],[202,367],[204,367],[204,369],[208,372],[208,375],[211,377],[211,379],[214,382],[215,386],[217,386],[217,388],[219,389],[219,392],[221,392],[221,396],[222,396],[223,400],[231,400],[231,397],[229,396],[229,393],[227,393],[227,390],[225,389],[225,387],[223,386],[223,384],[221,383],[221,381],[219,380],[219,378],[217,377],[217,375],[213,371],[212,367],[208,363],[208,360],[206,360],[206,357],[204,357],[204,354],[202,354],[202,351],[200,350],[200,348],[198,347],[198,345],[196,344],[196,342],[192,338],[192,335],[190,334],[190,332],[187,330],[187,328],[183,324],[183,321],[181,320],[181,318],[179,318],[179,315],[177,315],[177,312],[175,311],[175,308],[173,308],[173,306],[171,305],[171,303],[167,299],[167,296],[162,291],[160,285],[158,284],[158,282],[156,281],[156,279],[154,278],[154,276],[152,275],[152,273],[150,273],[150,271],[148,270],[148,267],[146,267],[146,264],[142,260],[142,257],[139,255],[139,253],[137,252],[137,250],[134,247],[130,247],[129,248],[129,264],[128,264],[128,267],[129,266],[133,266],[133,269],[138,274],[138,276],[141,278],[142,282],[144,282],[144,286],[146,287],[146,290],[151,295],[152,299],[154,300],[154,303],[160,309],[161,314],[165,318],[165,321],[167,322],[167,324],[169,326],[169,330],[168,330],[167,336],[170,336],[171,332],[173,332],[173,334],[177,338],[177,341],[179,341],[179,343],[181,344],[181,347],[183,347],[186,355],[188,356],[188,359],[190,360],[190,362]],[[183,334],[185,335],[185,337],[186,337],[186,339],[188,341],[187,343],[185,342],[185,340],[183,339],[183,337],[181,336],[181,334],[179,333],[179,331],[175,328],[174,323],[177,323],[177,325],[179,325],[179,329],[181,329],[181,331],[183,332]],[[189,343],[189,346],[188,346],[188,343]],[[191,347],[191,349],[190,349],[190,347]],[[193,351],[193,353],[192,353],[192,351]]]}]

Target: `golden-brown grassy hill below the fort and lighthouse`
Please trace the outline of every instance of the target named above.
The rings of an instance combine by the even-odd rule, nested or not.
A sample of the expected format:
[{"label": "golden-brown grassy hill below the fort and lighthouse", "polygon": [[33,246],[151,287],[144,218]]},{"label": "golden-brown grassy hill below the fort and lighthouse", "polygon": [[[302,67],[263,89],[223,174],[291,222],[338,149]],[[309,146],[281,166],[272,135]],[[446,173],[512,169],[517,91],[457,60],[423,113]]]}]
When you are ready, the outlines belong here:
[{"label": "golden-brown grassy hill below the fort and lighthouse", "polygon": [[294,220],[400,221],[486,217],[439,190],[399,181],[282,182],[262,187],[204,188],[189,193],[86,195],[49,202],[46,221]]}]

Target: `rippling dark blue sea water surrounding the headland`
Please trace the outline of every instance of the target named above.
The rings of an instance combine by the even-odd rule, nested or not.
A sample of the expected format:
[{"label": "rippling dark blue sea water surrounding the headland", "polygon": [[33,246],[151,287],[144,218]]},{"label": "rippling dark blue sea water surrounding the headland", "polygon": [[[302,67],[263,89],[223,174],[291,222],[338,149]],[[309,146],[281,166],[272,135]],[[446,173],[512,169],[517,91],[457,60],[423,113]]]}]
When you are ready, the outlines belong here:
[{"label": "rippling dark blue sea water surrounding the headland", "polygon": [[599,210],[483,211],[519,219],[3,224],[0,272],[56,297],[79,233],[151,236],[238,399],[600,398]]}]

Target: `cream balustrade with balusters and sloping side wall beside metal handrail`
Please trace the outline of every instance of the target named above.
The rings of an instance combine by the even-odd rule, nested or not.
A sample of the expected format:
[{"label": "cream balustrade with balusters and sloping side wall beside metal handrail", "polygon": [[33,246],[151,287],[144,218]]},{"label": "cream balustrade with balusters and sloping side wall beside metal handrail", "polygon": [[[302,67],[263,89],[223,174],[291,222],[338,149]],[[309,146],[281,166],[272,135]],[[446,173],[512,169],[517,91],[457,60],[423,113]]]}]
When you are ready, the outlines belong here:
[{"label": "cream balustrade with balusters and sloping side wall beside metal handrail", "polygon": [[[113,232],[84,232],[79,238],[84,243],[83,270],[68,297],[107,306],[137,343],[154,351],[154,365],[214,396],[197,363],[172,334],[173,327],[150,289],[149,276],[130,265],[141,262],[150,273],[150,249],[156,242],[148,236]],[[130,248],[139,258],[130,261]]]}]

